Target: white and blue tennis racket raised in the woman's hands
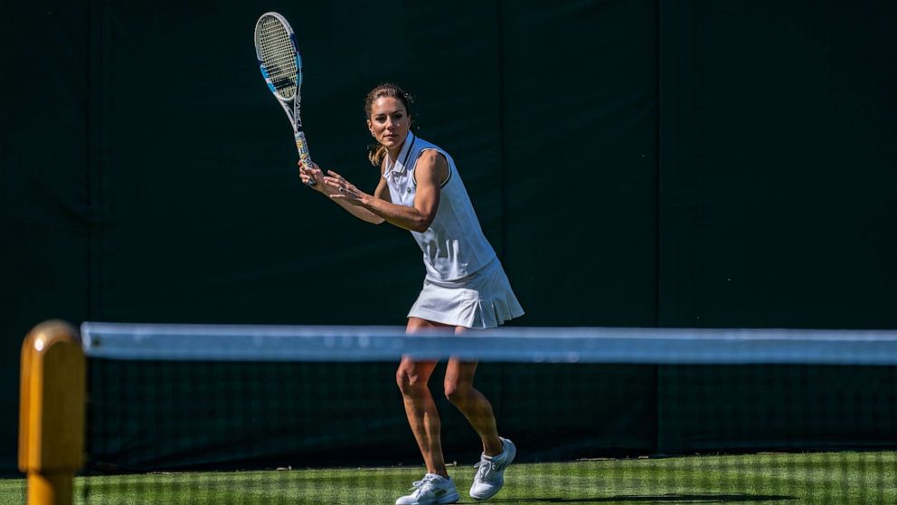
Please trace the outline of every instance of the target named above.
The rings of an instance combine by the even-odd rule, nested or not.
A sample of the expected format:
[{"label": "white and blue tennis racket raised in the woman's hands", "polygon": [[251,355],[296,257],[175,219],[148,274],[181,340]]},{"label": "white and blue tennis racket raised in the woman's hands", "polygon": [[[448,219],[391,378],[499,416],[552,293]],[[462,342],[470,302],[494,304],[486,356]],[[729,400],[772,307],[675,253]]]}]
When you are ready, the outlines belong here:
[{"label": "white and blue tennis racket raised in the woman's hands", "polygon": [[[274,12],[261,14],[255,24],[255,53],[259,59],[261,75],[293,126],[299,163],[310,170],[311,156],[308,154],[306,134],[302,131],[302,119],[299,116],[302,57],[299,55],[296,33],[284,16]],[[315,179],[309,179],[307,184],[315,186]]]}]

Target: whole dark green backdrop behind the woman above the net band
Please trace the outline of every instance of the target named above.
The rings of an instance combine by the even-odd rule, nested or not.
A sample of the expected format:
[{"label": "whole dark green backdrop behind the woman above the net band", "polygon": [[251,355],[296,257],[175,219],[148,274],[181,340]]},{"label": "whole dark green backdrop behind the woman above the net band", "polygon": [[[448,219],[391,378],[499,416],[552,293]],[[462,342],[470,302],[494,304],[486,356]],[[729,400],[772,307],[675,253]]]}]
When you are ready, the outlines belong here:
[{"label": "whole dark green backdrop behind the woman above the net band", "polygon": [[420,253],[297,184],[263,10],[322,166],[373,187],[364,93],[417,95],[518,324],[897,326],[893,3],[5,0],[0,469],[42,319],[403,322]]}]

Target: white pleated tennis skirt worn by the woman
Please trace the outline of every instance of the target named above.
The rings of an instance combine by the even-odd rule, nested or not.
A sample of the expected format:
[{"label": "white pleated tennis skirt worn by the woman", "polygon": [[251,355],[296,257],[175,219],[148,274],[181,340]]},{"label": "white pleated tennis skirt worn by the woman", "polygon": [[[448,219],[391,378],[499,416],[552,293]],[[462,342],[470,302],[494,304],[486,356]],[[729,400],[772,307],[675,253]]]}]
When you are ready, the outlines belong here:
[{"label": "white pleated tennis skirt worn by the woman", "polygon": [[428,275],[408,312],[409,318],[480,329],[496,328],[523,315],[498,258],[457,281],[439,281]]}]

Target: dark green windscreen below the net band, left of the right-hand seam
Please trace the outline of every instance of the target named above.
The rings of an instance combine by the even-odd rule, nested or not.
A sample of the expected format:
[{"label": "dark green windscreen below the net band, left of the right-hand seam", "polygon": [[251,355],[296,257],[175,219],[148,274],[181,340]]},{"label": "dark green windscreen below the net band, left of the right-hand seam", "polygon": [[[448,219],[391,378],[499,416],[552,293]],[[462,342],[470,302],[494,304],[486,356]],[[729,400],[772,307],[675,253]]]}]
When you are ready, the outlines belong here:
[{"label": "dark green windscreen below the net band, left of the right-hand seam", "polygon": [[[418,464],[395,367],[91,359],[87,472]],[[477,387],[526,461],[647,454],[655,368],[484,363]],[[444,370],[443,451],[473,464],[481,442],[441,394]]]}]

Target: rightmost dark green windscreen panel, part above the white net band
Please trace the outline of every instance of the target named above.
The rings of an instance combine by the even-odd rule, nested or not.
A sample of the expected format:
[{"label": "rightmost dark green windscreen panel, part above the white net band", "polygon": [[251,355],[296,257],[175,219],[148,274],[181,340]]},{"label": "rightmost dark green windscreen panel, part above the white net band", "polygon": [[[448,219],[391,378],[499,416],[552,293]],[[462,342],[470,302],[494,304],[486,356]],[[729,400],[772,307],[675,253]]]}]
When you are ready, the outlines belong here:
[{"label": "rightmost dark green windscreen panel, part above the white net band", "polygon": [[661,5],[661,326],[897,324],[895,20]]}]

